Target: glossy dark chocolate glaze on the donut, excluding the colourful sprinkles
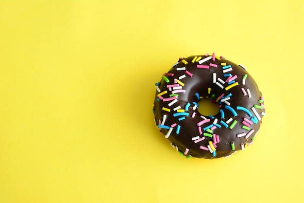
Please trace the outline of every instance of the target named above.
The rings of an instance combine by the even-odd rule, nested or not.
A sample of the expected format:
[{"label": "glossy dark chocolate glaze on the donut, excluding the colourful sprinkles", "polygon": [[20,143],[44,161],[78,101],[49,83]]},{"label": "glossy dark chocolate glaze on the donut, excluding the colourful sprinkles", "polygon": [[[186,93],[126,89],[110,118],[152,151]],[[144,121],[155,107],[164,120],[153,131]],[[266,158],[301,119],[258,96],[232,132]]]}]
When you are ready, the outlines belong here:
[{"label": "glossy dark chocolate glaze on the donut, excluding the colourful sprinkles", "polygon": [[[208,57],[208,56],[204,56],[204,55],[197,55],[197,56],[198,57],[201,56],[202,59]],[[167,118],[164,122],[165,126],[170,127],[172,124],[175,124],[175,123],[177,125],[180,125],[181,127],[180,127],[180,131],[178,134],[176,133],[177,126],[173,125],[172,131],[171,131],[171,133],[169,133],[168,140],[171,142],[173,147],[178,149],[178,151],[181,154],[184,154],[184,152],[188,149],[188,152],[185,154],[187,157],[214,159],[214,158],[219,158],[219,157],[223,157],[223,156],[229,156],[229,155],[233,154],[234,152],[242,149],[242,145],[244,145],[244,147],[246,148],[253,142],[254,137],[255,137],[256,133],[258,132],[262,121],[256,120],[257,121],[256,124],[253,123],[252,125],[250,125],[249,130],[242,128],[242,121],[243,121],[244,117],[249,120],[253,116],[255,118],[257,118],[257,116],[255,115],[255,113],[252,110],[253,105],[259,105],[259,106],[263,107],[263,109],[254,108],[256,110],[256,112],[258,113],[258,115],[260,116],[260,118],[262,118],[263,115],[265,115],[264,114],[265,108],[263,105],[264,99],[262,97],[262,93],[259,91],[257,84],[253,80],[253,77],[250,74],[248,74],[248,72],[244,68],[236,65],[235,63],[232,63],[229,60],[219,58],[219,57],[218,57],[218,59],[214,59],[214,60],[209,59],[209,60],[203,62],[202,64],[199,64],[199,62],[197,62],[197,61],[194,61],[194,63],[192,63],[191,61],[193,60],[194,57],[195,56],[189,56],[187,58],[184,58],[183,61],[182,61],[182,59],[180,59],[178,64],[175,64],[169,70],[169,72],[167,74],[165,74],[166,77],[169,79],[169,82],[166,82],[162,78],[160,80],[159,84],[157,84],[156,87],[159,88],[160,92],[167,91],[168,93],[163,94],[160,97],[161,99],[159,99],[157,94],[159,94],[160,92],[156,91],[154,106],[153,106],[156,126],[164,135],[166,135],[168,133],[169,129],[158,127],[158,124],[160,124],[163,120],[164,114],[167,114]],[[187,62],[187,64],[185,64],[185,62]],[[209,69],[197,68],[197,65],[209,65],[210,63],[216,64],[217,67],[209,66]],[[231,65],[232,71],[223,73],[222,67],[224,65],[221,65],[221,63],[226,63],[226,66]],[[193,74],[193,76],[191,77],[188,74],[185,74],[185,70],[177,71],[176,69],[179,67],[186,67],[186,71]],[[222,84],[217,79],[217,82],[219,82],[224,87],[223,89],[220,88],[219,85],[217,85],[216,83],[213,83],[213,73],[216,73],[216,78],[220,78],[223,81],[225,81],[228,78],[227,76],[224,76],[224,74],[232,74],[232,76],[237,75],[235,82],[237,82],[238,85],[236,85],[235,87],[232,87],[231,89],[226,91],[225,88],[227,86],[229,86],[227,84],[227,82]],[[171,74],[173,74],[173,76]],[[165,102],[162,100],[162,97],[168,98],[169,94],[172,94],[171,91],[169,91],[169,88],[167,88],[167,85],[175,84],[174,78],[179,79],[179,77],[184,74],[186,75],[186,77],[180,79],[180,81],[185,84],[182,88],[184,90],[186,90],[186,92],[177,93],[178,94],[177,102],[169,107],[168,104],[170,102],[172,102],[172,100],[165,101]],[[247,74],[247,78],[245,80],[245,85],[243,85],[242,78],[245,74]],[[208,94],[208,88],[211,88],[211,91],[209,94]],[[247,95],[244,95],[244,93],[241,91],[241,88],[244,88],[245,91],[247,89],[249,89],[251,92],[251,97],[249,97],[247,91],[246,91]],[[203,118],[201,117],[202,114],[198,111],[198,108],[195,109],[195,106],[193,104],[193,102],[198,103],[198,101],[199,101],[199,99],[195,95],[196,93],[199,93],[199,96],[201,98],[204,97],[204,98],[209,98],[209,99],[214,94],[212,102],[217,103],[219,105],[220,109],[223,110],[224,114],[225,114],[223,119],[221,119],[220,112],[217,113],[216,115],[213,115],[214,118],[208,117],[208,115],[203,115],[207,119],[210,119],[210,122],[203,124],[201,126],[202,131],[203,131],[204,127],[212,124],[215,121],[215,119],[218,119],[217,124],[220,125],[220,128],[216,128],[212,132],[212,134],[219,135],[219,140],[220,140],[219,143],[216,143],[216,153],[215,154],[211,153],[209,150],[207,151],[207,150],[200,148],[200,146],[207,147],[209,145],[209,141],[213,142],[214,139],[211,137],[208,137],[208,136],[203,136],[203,134],[199,133],[197,123],[202,121]],[[229,111],[228,109],[225,108],[225,106],[227,105],[226,103],[220,104],[220,100],[218,100],[218,102],[216,102],[217,98],[220,97],[220,95],[222,93],[224,93],[224,97],[226,95],[228,95],[229,93],[232,94],[230,96],[230,100],[228,100],[228,102],[230,103],[230,107],[236,111],[236,113],[237,113],[236,116],[234,116],[231,111]],[[185,109],[187,103],[190,103],[190,107],[188,108],[188,111],[185,111],[185,112],[188,112],[189,115],[185,116],[184,120],[179,121],[178,119],[181,118],[182,116],[174,117],[173,113],[176,113],[177,111],[173,111],[173,109],[178,106],[181,106],[182,109]],[[251,112],[252,116],[249,116],[248,113],[245,111],[236,110],[237,106],[246,108],[248,111]],[[170,109],[170,112],[162,110],[163,107]],[[193,112],[196,112],[196,115],[194,118],[192,118]],[[262,112],[264,112],[264,113],[262,113]],[[229,127],[225,128],[224,125],[222,125],[220,123],[221,120],[226,122],[230,118],[232,118],[233,121],[234,120],[237,121],[236,125],[232,129],[230,129]],[[228,126],[230,126],[233,123],[233,121],[231,121],[228,124]],[[244,132],[247,134],[252,129],[254,131],[249,137],[247,137],[247,139],[245,138],[245,136],[237,138],[237,136],[236,136],[237,134],[244,133]],[[206,132],[206,131],[203,131],[203,132]],[[205,139],[198,143],[194,143],[194,141],[191,138],[196,137],[196,136],[200,136],[200,138],[204,137]],[[235,150],[232,150],[231,143],[234,143]]]}]

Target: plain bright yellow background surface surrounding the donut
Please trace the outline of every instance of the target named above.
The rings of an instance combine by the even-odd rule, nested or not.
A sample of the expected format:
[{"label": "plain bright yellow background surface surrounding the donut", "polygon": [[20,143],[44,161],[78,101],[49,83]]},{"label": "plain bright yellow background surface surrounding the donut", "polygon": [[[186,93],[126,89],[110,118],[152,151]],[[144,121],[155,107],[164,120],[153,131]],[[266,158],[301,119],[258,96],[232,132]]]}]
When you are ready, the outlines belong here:
[{"label": "plain bright yellow background surface surrounding the donut", "polygon": [[[299,203],[304,1],[0,1],[0,203]],[[154,126],[178,57],[241,63],[265,96],[252,146],[186,159]]]}]

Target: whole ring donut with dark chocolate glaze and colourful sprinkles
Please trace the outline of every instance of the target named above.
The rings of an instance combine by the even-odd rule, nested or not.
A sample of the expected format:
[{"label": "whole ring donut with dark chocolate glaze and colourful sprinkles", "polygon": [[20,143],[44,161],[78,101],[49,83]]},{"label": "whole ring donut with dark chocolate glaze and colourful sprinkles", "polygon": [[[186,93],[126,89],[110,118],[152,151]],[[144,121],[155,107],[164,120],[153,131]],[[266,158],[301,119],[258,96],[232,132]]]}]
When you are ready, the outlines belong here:
[{"label": "whole ring donut with dark chocolate glaze and colourful sprinkles", "polygon": [[[155,124],[186,158],[245,150],[266,115],[262,93],[246,68],[214,53],[179,58],[155,87]],[[218,105],[216,115],[198,111],[203,98]]]}]

